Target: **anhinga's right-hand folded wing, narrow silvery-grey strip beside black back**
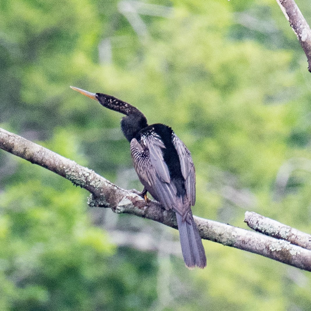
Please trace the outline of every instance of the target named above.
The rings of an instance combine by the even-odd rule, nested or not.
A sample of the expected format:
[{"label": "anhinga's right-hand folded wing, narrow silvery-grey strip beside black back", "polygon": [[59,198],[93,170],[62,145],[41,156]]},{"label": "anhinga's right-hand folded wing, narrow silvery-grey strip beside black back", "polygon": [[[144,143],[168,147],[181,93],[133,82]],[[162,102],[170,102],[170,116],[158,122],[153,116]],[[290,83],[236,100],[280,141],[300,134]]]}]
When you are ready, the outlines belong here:
[{"label": "anhinga's right-hand folded wing, narrow silvery-grey strip beside black back", "polygon": [[179,157],[181,173],[185,179],[187,197],[193,206],[196,203],[196,169],[188,148],[175,134],[172,137]]}]

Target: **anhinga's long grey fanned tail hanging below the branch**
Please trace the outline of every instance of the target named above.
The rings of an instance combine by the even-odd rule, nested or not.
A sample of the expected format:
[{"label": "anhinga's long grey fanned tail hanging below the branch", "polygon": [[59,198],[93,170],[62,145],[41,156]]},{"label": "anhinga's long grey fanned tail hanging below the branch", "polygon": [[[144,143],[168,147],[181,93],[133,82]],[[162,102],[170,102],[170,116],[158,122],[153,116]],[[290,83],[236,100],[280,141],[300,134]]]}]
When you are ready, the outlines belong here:
[{"label": "anhinga's long grey fanned tail hanging below the branch", "polygon": [[176,213],[181,252],[188,268],[206,267],[205,250],[196,223],[189,212],[186,220]]}]

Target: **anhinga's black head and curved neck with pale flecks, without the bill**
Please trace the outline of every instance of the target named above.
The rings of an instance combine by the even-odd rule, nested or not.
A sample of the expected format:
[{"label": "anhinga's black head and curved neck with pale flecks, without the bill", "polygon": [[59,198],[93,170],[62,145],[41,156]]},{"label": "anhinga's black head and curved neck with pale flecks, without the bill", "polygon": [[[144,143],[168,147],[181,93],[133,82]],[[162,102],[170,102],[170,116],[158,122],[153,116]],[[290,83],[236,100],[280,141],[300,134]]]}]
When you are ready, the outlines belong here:
[{"label": "anhinga's black head and curved neck with pale flecks, without the bill", "polygon": [[121,120],[121,129],[129,142],[148,126],[146,117],[136,107],[111,95],[96,93],[96,98],[104,107],[126,115]]}]

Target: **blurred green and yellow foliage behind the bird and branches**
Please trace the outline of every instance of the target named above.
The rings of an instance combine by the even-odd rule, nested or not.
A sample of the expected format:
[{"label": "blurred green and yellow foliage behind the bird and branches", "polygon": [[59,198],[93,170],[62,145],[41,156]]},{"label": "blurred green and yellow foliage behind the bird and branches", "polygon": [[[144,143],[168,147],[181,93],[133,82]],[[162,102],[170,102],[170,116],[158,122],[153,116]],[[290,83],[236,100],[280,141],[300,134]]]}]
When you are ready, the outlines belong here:
[{"label": "blurred green and yellow foliage behind the bird and branches", "polygon": [[[311,22],[309,1],[297,2]],[[2,0],[0,127],[142,190],[114,95],[186,143],[195,215],[246,210],[311,232],[311,84],[275,0]],[[87,206],[87,191],[0,151],[0,309],[310,310],[308,272]]]}]

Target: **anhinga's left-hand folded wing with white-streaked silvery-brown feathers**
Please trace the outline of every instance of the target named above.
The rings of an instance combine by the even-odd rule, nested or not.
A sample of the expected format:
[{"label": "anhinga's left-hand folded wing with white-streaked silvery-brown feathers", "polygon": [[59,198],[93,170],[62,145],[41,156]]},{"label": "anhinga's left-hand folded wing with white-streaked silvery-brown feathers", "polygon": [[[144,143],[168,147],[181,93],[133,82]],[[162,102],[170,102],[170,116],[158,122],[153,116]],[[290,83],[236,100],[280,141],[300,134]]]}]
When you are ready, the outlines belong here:
[{"label": "anhinga's left-hand folded wing with white-streaked silvery-brown feathers", "polygon": [[[137,139],[131,141],[131,156],[139,180],[148,192],[159,201],[164,208],[179,212],[182,199],[177,197],[176,186],[171,183],[168,168],[163,160],[163,143],[150,135],[144,141],[143,148]],[[182,211],[180,211],[182,212]]]}]

